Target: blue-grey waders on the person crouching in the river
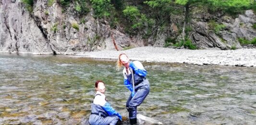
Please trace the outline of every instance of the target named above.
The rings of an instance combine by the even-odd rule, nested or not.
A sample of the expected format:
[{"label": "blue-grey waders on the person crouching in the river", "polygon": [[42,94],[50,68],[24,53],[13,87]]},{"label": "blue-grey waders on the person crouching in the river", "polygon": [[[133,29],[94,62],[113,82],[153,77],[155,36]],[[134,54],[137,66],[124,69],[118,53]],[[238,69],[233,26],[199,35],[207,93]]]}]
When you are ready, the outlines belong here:
[{"label": "blue-grey waders on the person crouching in the river", "polygon": [[[96,96],[101,96],[96,94]],[[95,102],[95,101],[94,101]],[[92,112],[89,117],[91,125],[116,125],[119,120],[117,115],[109,115],[100,104],[92,103]]]}]

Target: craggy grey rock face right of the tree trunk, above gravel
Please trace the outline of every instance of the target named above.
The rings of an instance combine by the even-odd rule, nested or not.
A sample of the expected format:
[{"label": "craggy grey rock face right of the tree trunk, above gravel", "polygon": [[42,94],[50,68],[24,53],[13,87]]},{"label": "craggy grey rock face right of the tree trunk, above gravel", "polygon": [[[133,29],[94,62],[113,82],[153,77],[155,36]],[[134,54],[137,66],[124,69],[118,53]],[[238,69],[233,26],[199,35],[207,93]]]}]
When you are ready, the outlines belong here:
[{"label": "craggy grey rock face right of the tree trunk, above gravel", "polygon": [[[218,20],[216,23],[222,24],[223,29],[218,33],[209,30],[211,24],[206,22],[209,20]],[[191,34],[192,40],[202,49],[230,49],[232,46],[241,48],[238,38],[252,40],[256,37],[256,30],[252,28],[255,23],[256,15],[252,10],[245,11],[244,15],[239,15],[235,19],[224,14],[219,16],[210,14],[197,15],[192,21],[194,31]]]}]

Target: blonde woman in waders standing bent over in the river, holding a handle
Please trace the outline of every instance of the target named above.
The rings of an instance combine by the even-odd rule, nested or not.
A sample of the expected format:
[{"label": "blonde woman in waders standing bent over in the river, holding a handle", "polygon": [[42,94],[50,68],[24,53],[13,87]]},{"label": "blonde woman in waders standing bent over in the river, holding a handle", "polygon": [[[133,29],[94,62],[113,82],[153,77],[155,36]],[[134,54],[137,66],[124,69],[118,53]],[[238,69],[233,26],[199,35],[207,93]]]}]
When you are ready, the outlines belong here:
[{"label": "blonde woman in waders standing bent over in the river, holding a handle", "polygon": [[[117,69],[123,68],[124,85],[131,91],[126,102],[131,125],[137,124],[137,106],[149,93],[149,81],[146,79],[146,69],[139,61],[130,61],[126,54],[120,54],[117,60]],[[134,82],[134,83],[133,83]],[[133,86],[134,84],[134,86]]]}]

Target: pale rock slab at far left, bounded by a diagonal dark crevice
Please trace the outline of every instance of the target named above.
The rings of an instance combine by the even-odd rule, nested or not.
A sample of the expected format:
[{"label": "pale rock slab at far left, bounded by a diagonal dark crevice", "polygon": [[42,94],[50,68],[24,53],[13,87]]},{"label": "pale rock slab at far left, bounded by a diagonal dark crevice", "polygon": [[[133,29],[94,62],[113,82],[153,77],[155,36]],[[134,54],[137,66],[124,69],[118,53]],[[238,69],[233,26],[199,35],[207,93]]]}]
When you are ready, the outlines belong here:
[{"label": "pale rock slab at far left, bounded by a diagonal dark crevice", "polygon": [[0,52],[52,54],[51,45],[21,2],[2,0],[0,5]]}]

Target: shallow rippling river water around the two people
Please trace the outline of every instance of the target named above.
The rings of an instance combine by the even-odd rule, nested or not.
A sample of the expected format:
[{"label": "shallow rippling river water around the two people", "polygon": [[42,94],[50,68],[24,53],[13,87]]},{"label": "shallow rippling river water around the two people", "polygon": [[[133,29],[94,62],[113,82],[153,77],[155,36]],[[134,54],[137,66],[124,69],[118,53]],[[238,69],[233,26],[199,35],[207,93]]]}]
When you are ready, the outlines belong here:
[{"label": "shallow rippling river water around the two people", "polygon": [[[165,125],[256,124],[256,68],[143,65],[150,93],[139,114]],[[0,125],[87,124],[96,80],[106,83],[108,102],[128,117],[130,92],[114,61],[0,54]]]}]

